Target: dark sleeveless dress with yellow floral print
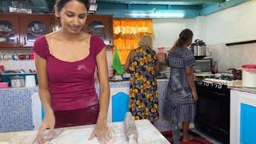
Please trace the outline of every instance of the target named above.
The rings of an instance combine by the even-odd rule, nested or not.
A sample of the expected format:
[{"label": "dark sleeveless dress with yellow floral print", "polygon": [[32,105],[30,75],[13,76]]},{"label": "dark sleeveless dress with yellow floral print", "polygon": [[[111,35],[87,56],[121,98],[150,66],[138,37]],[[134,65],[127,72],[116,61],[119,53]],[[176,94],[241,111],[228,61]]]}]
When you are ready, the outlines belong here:
[{"label": "dark sleeveless dress with yellow floral print", "polygon": [[154,50],[141,47],[134,50],[134,56],[130,59],[129,109],[135,120],[154,122],[159,117],[156,65]]}]

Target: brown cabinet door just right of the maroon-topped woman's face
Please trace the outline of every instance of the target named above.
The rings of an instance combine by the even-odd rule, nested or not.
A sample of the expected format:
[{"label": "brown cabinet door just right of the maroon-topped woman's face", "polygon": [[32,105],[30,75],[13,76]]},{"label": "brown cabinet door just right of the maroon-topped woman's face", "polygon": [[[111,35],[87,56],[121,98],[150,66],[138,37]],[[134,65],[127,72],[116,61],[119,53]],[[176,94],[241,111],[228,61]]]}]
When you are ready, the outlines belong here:
[{"label": "brown cabinet door just right of the maroon-topped woman's face", "polygon": [[112,15],[88,15],[84,30],[102,38],[106,45],[113,45]]}]

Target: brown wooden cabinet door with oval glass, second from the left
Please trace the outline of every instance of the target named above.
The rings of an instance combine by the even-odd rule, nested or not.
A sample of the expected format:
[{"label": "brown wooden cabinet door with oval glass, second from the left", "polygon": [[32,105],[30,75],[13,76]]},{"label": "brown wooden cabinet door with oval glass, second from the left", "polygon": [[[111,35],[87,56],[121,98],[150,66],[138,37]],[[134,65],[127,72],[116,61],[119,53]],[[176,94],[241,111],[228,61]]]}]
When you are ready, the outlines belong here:
[{"label": "brown wooden cabinet door with oval glass, second from the left", "polygon": [[51,32],[50,14],[20,15],[19,23],[23,47],[34,46],[36,38]]}]

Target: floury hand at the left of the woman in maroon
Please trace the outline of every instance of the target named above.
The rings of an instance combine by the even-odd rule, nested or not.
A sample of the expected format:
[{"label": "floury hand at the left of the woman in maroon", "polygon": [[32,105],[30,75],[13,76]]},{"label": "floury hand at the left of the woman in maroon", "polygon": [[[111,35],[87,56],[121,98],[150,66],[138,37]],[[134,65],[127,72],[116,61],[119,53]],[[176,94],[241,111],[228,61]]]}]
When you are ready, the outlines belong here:
[{"label": "floury hand at the left of the woman in maroon", "polygon": [[[42,121],[42,124],[38,130],[37,141],[38,143],[45,143],[52,138],[54,138],[54,126],[55,126],[55,116],[54,111],[51,108],[45,110],[46,117]],[[46,128],[50,128],[50,132],[47,136],[44,137],[43,133]]]}]

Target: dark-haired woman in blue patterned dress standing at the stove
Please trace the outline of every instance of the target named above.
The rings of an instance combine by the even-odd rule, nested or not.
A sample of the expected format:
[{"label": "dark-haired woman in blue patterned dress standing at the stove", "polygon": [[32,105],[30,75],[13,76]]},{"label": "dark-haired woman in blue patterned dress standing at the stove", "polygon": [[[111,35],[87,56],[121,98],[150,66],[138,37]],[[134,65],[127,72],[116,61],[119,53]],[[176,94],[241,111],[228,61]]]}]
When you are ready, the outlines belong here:
[{"label": "dark-haired woman in blue patterned dress standing at the stove", "polygon": [[192,137],[188,134],[190,122],[194,122],[195,102],[198,100],[194,84],[194,54],[187,48],[190,46],[193,32],[182,30],[177,42],[170,50],[166,64],[170,66],[170,79],[167,87],[164,116],[169,120],[176,118],[182,122],[182,140]]}]

